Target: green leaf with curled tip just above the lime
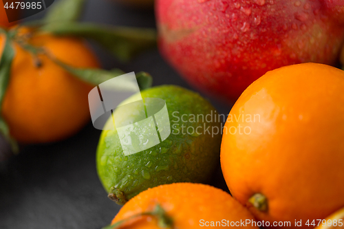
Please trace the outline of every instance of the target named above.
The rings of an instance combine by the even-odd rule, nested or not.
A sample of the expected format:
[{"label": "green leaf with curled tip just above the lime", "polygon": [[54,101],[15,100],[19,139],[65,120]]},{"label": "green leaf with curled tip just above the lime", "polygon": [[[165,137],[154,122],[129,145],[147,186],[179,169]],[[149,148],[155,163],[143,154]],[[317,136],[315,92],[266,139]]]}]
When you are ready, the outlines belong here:
[{"label": "green leaf with curled tip just above the lime", "polygon": [[[56,59],[54,61],[55,63],[63,67],[67,72],[70,72],[80,80],[83,80],[92,85],[100,85],[100,83],[110,80],[111,78],[115,78],[117,76],[125,74],[125,72],[122,72],[122,70],[120,69],[112,69],[111,71],[106,71],[103,69],[82,69],[71,67]],[[136,78],[138,80],[138,86],[141,90],[151,87],[152,78],[151,75],[149,75],[148,73],[139,72],[138,74],[136,74]],[[131,81],[123,79],[121,81],[117,81],[116,85],[111,85],[111,87],[114,87],[114,89],[131,90],[132,88],[135,88],[137,86],[133,85]]]}]

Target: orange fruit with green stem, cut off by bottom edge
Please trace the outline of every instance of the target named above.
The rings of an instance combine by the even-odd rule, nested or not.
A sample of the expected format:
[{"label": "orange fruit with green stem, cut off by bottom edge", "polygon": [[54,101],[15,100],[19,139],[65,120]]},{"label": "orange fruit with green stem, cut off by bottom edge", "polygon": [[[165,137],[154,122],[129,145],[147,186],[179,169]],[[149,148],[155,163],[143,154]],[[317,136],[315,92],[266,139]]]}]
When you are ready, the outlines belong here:
[{"label": "orange fruit with green stem, cut off by bottom edge", "polygon": [[[112,224],[133,217],[142,212],[153,211],[160,206],[173,222],[173,228],[189,229],[211,226],[219,223],[247,222],[246,228],[255,228],[257,223],[250,212],[241,206],[228,193],[205,184],[174,183],[164,184],[143,191],[130,199],[120,209]],[[216,225],[217,222],[217,225]],[[240,226],[237,223],[237,226]],[[241,225],[242,226],[242,225]],[[160,229],[157,217],[133,217],[119,228]]]}]

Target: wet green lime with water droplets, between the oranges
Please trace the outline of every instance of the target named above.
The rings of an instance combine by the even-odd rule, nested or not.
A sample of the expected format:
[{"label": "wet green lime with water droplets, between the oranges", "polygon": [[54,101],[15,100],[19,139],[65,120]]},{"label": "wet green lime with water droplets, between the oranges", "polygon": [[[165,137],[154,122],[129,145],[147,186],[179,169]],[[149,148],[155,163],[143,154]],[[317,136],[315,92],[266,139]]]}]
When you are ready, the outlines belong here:
[{"label": "wet green lime with water droplets, between the oranges", "polygon": [[[97,149],[98,175],[109,197],[118,204],[160,184],[206,182],[219,163],[221,135],[217,130],[221,124],[215,118],[211,120],[215,109],[208,101],[199,94],[172,85],[146,89],[141,95],[166,102],[171,134],[149,149],[124,155],[118,131],[102,132]],[[139,96],[136,94],[125,102]],[[128,110],[126,112],[122,116],[127,116]],[[129,113],[133,119],[139,116],[135,109]],[[111,119],[108,124],[112,124]],[[134,128],[134,132],[144,133],[149,126]]]}]

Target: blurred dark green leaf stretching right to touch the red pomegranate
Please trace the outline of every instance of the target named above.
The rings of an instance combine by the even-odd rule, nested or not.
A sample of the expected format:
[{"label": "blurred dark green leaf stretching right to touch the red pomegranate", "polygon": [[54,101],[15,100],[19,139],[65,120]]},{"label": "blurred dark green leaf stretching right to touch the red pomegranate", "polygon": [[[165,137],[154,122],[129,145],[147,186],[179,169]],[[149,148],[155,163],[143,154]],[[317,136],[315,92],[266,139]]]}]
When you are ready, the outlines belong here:
[{"label": "blurred dark green leaf stretching right to touch the red pomegranate", "polygon": [[42,28],[60,36],[81,36],[92,39],[114,54],[120,61],[156,46],[156,31],[149,28],[127,28],[93,23],[54,23]]}]

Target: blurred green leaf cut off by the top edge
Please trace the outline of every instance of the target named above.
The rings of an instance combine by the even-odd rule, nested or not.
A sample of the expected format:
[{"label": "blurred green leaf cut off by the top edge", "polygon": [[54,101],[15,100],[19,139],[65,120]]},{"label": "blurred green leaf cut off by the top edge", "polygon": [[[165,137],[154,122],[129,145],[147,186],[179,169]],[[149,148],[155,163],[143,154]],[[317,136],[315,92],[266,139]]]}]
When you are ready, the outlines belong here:
[{"label": "blurred green leaf cut off by the top edge", "polygon": [[[85,0],[61,0],[55,2],[43,19],[45,23],[76,21],[85,5]],[[49,25],[47,25],[49,26]]]}]

